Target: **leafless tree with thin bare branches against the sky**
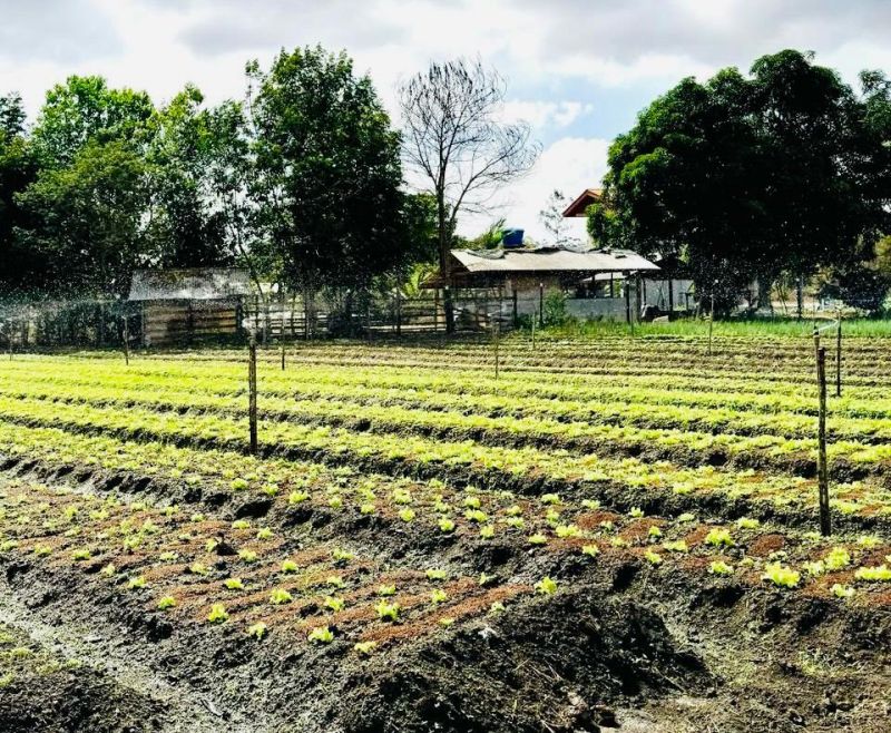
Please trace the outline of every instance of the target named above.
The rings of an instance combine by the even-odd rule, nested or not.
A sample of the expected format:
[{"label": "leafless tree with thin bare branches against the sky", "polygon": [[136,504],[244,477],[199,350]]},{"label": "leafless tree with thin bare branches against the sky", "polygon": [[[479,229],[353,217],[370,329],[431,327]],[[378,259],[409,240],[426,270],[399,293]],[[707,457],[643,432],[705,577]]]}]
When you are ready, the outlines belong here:
[{"label": "leafless tree with thin bare branches against the sky", "polygon": [[[525,123],[499,120],[503,79],[479,61],[432,63],[399,88],[403,155],[437,199],[440,272],[449,281],[449,251],[461,211],[486,212],[499,186],[528,172],[539,148]],[[446,330],[454,331],[446,292]]]}]

